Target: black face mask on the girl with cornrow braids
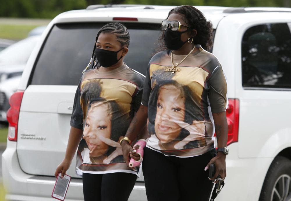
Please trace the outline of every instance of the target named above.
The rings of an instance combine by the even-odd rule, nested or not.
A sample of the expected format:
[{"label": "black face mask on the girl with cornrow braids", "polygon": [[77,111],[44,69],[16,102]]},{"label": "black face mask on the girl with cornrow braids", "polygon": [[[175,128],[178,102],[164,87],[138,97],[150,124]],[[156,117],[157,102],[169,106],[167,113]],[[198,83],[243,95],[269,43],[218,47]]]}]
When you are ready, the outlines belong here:
[{"label": "black face mask on the girl with cornrow braids", "polygon": [[113,66],[122,58],[121,56],[119,59],[117,59],[117,53],[120,52],[122,49],[123,48],[115,52],[96,48],[95,49],[96,59],[100,63],[100,65],[103,66],[104,68]]}]

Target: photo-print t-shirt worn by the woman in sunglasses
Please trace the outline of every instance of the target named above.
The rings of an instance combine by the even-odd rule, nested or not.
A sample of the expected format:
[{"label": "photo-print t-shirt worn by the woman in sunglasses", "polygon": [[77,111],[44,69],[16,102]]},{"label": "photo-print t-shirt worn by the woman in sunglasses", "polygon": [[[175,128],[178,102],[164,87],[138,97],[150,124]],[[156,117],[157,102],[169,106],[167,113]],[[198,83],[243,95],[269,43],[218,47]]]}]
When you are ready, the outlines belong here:
[{"label": "photo-print t-shirt worn by the woman in sunglasses", "polygon": [[[173,54],[173,63],[185,56]],[[215,147],[212,113],[226,111],[226,78],[217,58],[200,45],[172,68],[171,50],[148,65],[141,102],[148,106],[146,146],[166,156],[201,155]]]}]

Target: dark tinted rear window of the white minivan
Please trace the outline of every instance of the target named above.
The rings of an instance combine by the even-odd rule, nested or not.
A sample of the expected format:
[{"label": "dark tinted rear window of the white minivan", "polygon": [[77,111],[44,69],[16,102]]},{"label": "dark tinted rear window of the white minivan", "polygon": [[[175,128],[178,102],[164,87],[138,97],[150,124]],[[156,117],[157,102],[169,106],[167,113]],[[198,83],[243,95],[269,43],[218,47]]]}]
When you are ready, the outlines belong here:
[{"label": "dark tinted rear window of the white minivan", "polygon": [[[99,29],[106,23],[58,24],[50,32],[34,68],[31,84],[77,85],[87,66]],[[159,36],[159,26],[123,23],[129,30],[124,62],[145,74]]]}]

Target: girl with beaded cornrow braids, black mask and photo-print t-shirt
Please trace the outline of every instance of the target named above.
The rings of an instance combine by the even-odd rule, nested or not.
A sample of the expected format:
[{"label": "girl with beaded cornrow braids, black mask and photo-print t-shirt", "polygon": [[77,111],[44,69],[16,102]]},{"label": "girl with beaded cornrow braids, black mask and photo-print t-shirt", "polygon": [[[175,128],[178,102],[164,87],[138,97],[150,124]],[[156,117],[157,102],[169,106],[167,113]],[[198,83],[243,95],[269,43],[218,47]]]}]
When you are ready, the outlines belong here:
[{"label": "girl with beaded cornrow braids, black mask and photo-print t-shirt", "polygon": [[[78,147],[76,173],[85,201],[126,201],[140,174],[138,167],[127,166],[119,144],[139,109],[144,83],[144,76],[123,62],[129,43],[124,25],[103,26],[75,94],[68,146],[55,176],[65,174]],[[88,70],[92,63],[97,67]]]}]

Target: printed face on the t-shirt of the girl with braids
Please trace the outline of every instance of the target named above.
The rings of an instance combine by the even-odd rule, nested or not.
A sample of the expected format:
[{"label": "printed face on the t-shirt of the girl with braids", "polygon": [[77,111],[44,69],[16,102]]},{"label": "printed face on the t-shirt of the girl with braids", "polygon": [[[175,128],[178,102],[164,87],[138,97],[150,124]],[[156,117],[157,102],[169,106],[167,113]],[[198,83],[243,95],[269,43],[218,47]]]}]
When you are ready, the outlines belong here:
[{"label": "printed face on the t-shirt of the girl with braids", "polygon": [[94,102],[88,111],[84,127],[84,137],[91,157],[104,155],[109,145],[103,139],[110,139],[111,115],[109,114],[109,103]]}]

